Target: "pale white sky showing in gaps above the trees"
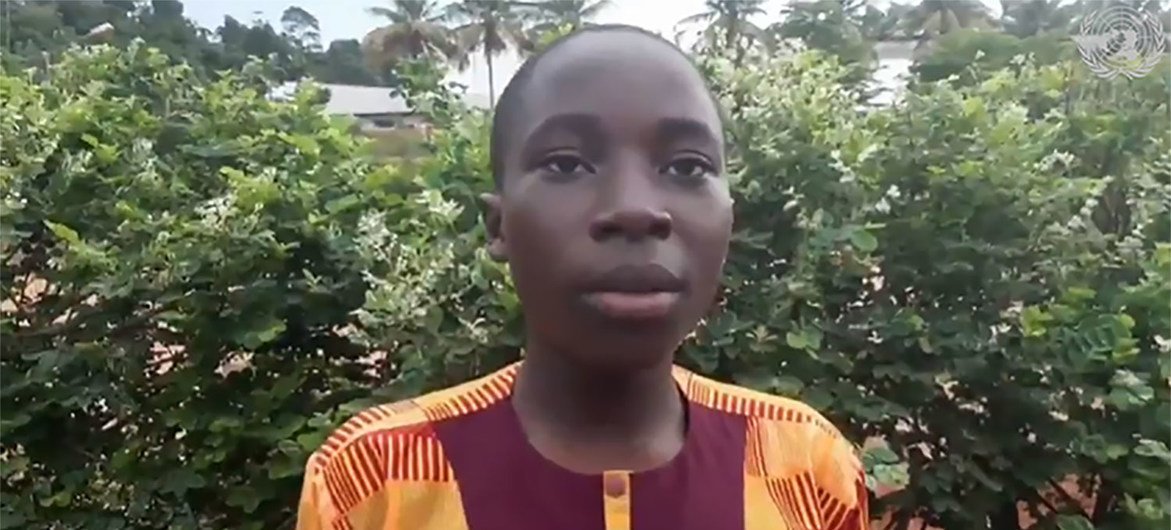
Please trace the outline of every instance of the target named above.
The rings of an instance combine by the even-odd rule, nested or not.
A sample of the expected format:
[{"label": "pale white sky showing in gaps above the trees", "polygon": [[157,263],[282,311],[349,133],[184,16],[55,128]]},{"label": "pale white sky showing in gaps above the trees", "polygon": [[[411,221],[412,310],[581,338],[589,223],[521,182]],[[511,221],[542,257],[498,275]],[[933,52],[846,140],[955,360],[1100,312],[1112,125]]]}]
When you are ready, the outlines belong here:
[{"label": "pale white sky showing in gaps above the trees", "polygon": [[[903,0],[906,1],[906,0]],[[993,13],[1000,12],[997,0],[981,0]],[[779,18],[778,13],[786,2],[783,0],[766,0],[767,15],[754,22],[768,23]],[[877,7],[885,7],[889,1],[875,0]],[[224,16],[232,16],[241,22],[262,19],[280,27],[281,13],[289,6],[301,7],[314,16],[321,26],[323,46],[336,39],[358,39],[383,23],[377,16],[367,13],[370,6],[389,6],[389,1],[379,0],[191,0],[184,2],[187,18],[206,28],[214,29],[224,22]],[[704,0],[611,0],[596,22],[629,23],[639,26],[663,36],[673,37],[676,25],[686,16],[704,11]],[[508,78],[520,66],[521,60],[515,54],[505,54],[493,61],[497,92],[508,82]],[[910,64],[888,64],[881,75],[897,76]],[[453,81],[468,87],[472,94],[487,95],[488,73],[482,55],[473,57],[466,71],[452,76]]]}]

